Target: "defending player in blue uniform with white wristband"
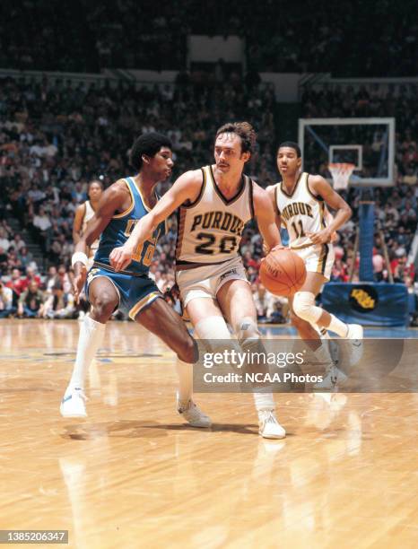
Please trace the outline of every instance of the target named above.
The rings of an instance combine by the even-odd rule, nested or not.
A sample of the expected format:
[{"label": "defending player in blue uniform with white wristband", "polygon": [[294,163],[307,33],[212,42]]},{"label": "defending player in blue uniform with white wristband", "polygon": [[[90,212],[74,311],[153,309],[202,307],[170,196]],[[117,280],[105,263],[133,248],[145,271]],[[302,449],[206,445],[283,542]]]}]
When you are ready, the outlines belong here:
[{"label": "defending player in blue uniform with white wristband", "polygon": [[[130,161],[137,175],[118,179],[103,192],[94,217],[75,247],[74,296],[77,300],[87,278],[86,294],[92,308],[83,320],[73,375],[61,403],[60,412],[64,417],[86,416],[84,379],[103,342],[106,323],[116,309],[158,335],[177,354],[179,375],[183,370],[189,375],[197,359],[196,342],[186,325],[164,299],[159,299],[163,296],[148,276],[165,223],[157,223],[133,250],[128,270],[116,273],[110,265],[111,250],[123,245],[135,223],[152,210],[158,199],[154,187],[170,176],[173,167],[170,139],[156,133],[141,135],[132,147]],[[86,252],[99,236],[99,248],[87,275]],[[210,419],[191,399],[184,403],[182,414],[195,427],[211,425]]]}]

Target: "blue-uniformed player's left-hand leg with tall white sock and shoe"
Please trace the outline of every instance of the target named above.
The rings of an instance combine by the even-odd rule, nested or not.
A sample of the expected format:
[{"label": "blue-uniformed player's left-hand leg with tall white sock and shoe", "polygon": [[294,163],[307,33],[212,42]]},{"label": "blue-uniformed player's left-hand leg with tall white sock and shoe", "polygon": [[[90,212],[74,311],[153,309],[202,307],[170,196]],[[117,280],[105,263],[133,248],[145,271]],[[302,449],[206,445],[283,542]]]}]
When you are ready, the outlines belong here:
[{"label": "blue-uniformed player's left-hand leg with tall white sock and shoe", "polygon": [[60,412],[64,417],[85,417],[84,380],[91,361],[103,343],[106,322],[118,307],[119,295],[106,276],[93,277],[89,283],[91,313],[80,323],[80,335],[73,374],[65,389]]}]

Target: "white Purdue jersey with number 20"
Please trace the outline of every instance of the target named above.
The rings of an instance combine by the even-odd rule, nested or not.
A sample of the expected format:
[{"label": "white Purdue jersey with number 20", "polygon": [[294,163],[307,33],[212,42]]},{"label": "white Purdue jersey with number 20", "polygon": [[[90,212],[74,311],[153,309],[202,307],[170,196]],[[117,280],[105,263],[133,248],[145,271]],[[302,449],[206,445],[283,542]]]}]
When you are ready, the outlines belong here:
[{"label": "white Purdue jersey with number 20", "polygon": [[245,224],[254,217],[253,183],[242,176],[236,196],[222,195],[212,166],[202,168],[202,189],[196,201],[178,210],[176,265],[222,263],[238,256]]}]

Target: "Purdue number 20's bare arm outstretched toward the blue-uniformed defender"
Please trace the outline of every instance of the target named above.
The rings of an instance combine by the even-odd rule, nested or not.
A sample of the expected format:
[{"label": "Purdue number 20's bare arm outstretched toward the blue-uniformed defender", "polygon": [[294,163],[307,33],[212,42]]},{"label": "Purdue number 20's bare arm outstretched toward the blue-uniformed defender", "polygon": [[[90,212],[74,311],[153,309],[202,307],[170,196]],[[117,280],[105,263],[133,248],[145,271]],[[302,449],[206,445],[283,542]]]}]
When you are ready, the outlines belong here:
[{"label": "Purdue number 20's bare arm outstretched toward the blue-uniformed defender", "polygon": [[202,172],[187,171],[177,179],[167,193],[162,196],[151,212],[136,223],[125,244],[115,248],[110,254],[110,265],[116,271],[125,269],[132,261],[135,248],[152,237],[153,231],[166,220],[171,213],[187,200],[194,202],[202,187]]}]

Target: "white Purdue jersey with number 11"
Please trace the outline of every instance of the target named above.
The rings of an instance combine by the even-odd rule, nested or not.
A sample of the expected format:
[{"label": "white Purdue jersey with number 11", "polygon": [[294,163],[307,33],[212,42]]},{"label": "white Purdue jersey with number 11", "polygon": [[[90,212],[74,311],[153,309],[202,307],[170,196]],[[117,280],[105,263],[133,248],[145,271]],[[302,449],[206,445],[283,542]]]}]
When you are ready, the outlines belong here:
[{"label": "white Purdue jersey with number 11", "polygon": [[289,194],[283,182],[274,187],[275,202],[280,218],[289,232],[289,244],[292,248],[309,245],[307,232],[325,229],[325,203],[321,196],[314,196],[308,187],[309,174],[303,172]]}]

